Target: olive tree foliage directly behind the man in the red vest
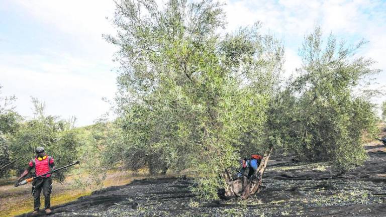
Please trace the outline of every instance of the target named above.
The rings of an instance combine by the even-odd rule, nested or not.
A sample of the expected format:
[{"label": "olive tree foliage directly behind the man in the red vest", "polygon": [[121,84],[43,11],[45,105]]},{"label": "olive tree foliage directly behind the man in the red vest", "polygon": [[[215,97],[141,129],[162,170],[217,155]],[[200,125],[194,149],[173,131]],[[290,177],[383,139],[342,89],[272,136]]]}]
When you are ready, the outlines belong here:
[{"label": "olive tree foliage directly behind the man in the red vest", "polygon": [[[16,160],[13,168],[20,174],[35,158],[36,147],[44,147],[47,155],[52,156],[56,167],[72,163],[77,159],[76,147],[79,145],[77,132],[73,129],[74,120],[59,120],[44,114],[45,104],[32,98],[35,117],[21,122],[18,131],[9,137],[10,158]],[[64,172],[54,175],[63,180]]]}]

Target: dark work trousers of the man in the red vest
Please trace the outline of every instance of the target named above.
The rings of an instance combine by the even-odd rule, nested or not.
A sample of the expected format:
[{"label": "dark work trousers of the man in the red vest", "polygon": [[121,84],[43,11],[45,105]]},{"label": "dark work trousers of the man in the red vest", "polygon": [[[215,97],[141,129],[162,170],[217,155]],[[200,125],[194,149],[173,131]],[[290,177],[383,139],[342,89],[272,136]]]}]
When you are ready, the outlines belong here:
[{"label": "dark work trousers of the man in the red vest", "polygon": [[44,195],[44,209],[50,208],[50,194],[52,191],[52,178],[38,178],[32,182],[32,196],[34,197],[34,210],[40,208],[40,192]]}]

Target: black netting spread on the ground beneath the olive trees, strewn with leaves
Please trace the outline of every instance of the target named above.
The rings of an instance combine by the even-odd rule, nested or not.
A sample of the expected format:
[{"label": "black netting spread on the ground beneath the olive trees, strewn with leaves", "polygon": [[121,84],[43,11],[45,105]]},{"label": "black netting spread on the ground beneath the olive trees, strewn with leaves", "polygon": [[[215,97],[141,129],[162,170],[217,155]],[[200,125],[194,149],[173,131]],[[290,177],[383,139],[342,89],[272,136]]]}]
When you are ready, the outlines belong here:
[{"label": "black netting spread on the ground beneath the olive trees, strewn with leaves", "polygon": [[386,216],[386,147],[365,148],[365,164],[344,175],[325,163],[272,160],[261,191],[246,200],[203,202],[189,179],[143,179],[53,206],[50,216]]}]

